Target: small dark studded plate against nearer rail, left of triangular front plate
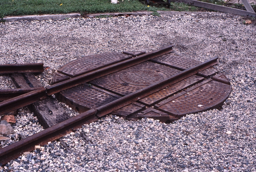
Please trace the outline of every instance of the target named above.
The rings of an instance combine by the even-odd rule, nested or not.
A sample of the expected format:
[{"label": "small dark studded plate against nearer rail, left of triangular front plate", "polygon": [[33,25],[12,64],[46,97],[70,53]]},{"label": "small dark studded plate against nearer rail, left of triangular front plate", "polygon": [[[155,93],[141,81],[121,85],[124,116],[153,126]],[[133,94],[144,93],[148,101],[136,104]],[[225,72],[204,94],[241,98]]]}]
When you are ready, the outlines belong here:
[{"label": "small dark studded plate against nearer rail, left of triangular front plate", "polygon": [[124,119],[126,119],[127,117],[132,118],[131,115],[136,114],[145,108],[146,108],[145,105],[134,102],[134,103],[128,104],[127,106],[124,106],[116,111],[113,111],[112,114],[120,116]]}]

